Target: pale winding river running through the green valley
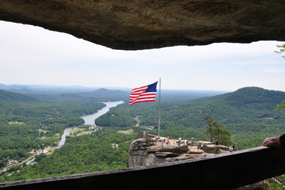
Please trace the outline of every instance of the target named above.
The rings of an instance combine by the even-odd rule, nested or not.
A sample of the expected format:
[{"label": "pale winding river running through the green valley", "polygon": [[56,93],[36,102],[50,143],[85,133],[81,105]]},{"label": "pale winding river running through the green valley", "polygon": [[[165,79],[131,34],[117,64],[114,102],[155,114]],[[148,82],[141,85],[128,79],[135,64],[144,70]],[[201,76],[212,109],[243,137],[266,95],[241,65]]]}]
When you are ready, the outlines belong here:
[{"label": "pale winding river running through the green valley", "polygon": [[[99,116],[102,116],[103,114],[106,114],[110,108],[118,106],[119,104],[123,104],[123,101],[110,101],[110,102],[102,102],[106,106],[103,107],[103,109],[100,109],[97,113],[95,114],[90,114],[86,116],[81,116],[82,119],[84,119],[86,125],[93,125],[96,126],[95,124],[95,119],[97,119]],[[64,129],[63,135],[61,136],[61,141],[59,141],[58,146],[63,146],[63,144],[66,142],[66,135],[68,135],[72,129],[76,129],[77,127],[66,127]]]}]

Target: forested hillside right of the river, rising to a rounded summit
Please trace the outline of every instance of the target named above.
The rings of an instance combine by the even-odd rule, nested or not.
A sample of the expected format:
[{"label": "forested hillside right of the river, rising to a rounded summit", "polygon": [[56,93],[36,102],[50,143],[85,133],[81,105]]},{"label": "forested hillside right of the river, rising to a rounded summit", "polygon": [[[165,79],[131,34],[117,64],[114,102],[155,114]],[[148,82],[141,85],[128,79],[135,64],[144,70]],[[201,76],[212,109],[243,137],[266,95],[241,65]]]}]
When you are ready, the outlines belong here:
[{"label": "forested hillside right of the river, rising to a rounded summit", "polygon": [[[260,146],[261,140],[277,136],[285,131],[285,111],[274,111],[276,104],[285,100],[285,92],[269,91],[258,87],[245,87],[232,93],[193,99],[184,102],[163,102],[161,104],[160,134],[185,136],[176,129],[196,130],[200,139],[205,130],[204,115],[209,115],[231,131],[232,141],[243,148]],[[122,126],[120,116],[129,120],[138,116],[140,125],[157,127],[158,102],[121,104],[108,114],[96,119],[100,126]],[[184,129],[183,129],[184,130]],[[182,131],[183,131],[182,130]],[[176,131],[180,131],[177,134]],[[168,134],[167,134],[168,133]],[[193,132],[195,133],[195,132]],[[189,134],[190,135],[190,134]]]}]

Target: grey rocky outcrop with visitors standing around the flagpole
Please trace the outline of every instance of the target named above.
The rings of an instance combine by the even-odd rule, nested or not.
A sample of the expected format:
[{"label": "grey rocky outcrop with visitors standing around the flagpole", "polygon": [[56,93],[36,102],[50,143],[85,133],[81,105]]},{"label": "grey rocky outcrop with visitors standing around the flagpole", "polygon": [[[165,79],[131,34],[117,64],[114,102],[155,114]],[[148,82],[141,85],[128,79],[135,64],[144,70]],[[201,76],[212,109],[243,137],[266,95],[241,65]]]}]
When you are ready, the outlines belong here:
[{"label": "grey rocky outcrop with visitors standing around the flagpole", "polygon": [[204,150],[198,148],[199,144],[195,142],[194,146],[184,144],[177,146],[177,140],[170,140],[170,145],[164,143],[165,138],[155,140],[155,137],[149,139],[137,139],[130,144],[127,167],[147,166],[152,164],[162,164],[172,161],[185,159],[195,159],[199,156],[212,155],[214,145],[204,144]]}]

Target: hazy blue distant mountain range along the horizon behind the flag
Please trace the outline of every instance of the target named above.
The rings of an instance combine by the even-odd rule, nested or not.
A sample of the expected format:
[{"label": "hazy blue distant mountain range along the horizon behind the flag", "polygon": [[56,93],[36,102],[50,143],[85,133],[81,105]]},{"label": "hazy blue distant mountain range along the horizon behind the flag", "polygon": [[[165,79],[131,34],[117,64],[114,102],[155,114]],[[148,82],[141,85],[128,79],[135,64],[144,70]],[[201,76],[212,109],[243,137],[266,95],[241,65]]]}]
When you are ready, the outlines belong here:
[{"label": "hazy blue distant mountain range along the horizon behind the flag", "polygon": [[[110,98],[108,101],[114,101],[113,96],[117,96],[118,99],[125,99],[128,101],[124,92],[130,94],[132,89],[123,87],[84,87],[84,86],[52,86],[52,85],[5,85],[0,84],[0,89],[5,91],[11,91],[20,94],[26,94],[36,97],[38,99],[53,99],[53,100],[70,100],[70,101],[86,101],[86,97],[100,97],[100,101],[103,97],[104,100]],[[109,90],[109,91],[108,91]],[[224,94],[229,91],[202,91],[202,90],[173,90],[162,89],[161,100],[162,101],[188,101],[190,99],[197,99],[204,96],[215,96],[218,94]],[[73,95],[72,95],[73,94]],[[75,95],[76,94],[76,95]],[[78,96],[79,95],[79,96]],[[157,99],[158,99],[157,89]],[[85,97],[81,99],[80,96]],[[95,101],[95,99],[89,99],[88,101]]]}]

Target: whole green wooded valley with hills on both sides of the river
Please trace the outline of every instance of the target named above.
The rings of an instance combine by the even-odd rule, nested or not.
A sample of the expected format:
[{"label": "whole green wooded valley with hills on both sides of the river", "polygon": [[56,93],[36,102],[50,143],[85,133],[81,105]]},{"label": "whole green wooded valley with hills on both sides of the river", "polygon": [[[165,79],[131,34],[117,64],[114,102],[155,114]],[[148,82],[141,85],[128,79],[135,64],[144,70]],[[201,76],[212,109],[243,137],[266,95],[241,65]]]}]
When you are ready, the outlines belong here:
[{"label": "whole green wooded valley with hills on both sides of the river", "polygon": [[[98,101],[95,101],[96,93],[90,93],[92,98],[81,94],[86,97],[83,101],[72,94],[63,100],[0,92],[0,163],[3,163],[0,166],[3,168],[9,159],[21,163],[11,166],[9,172],[2,171],[1,183],[124,169],[130,144],[138,139],[141,131],[157,135],[157,102],[128,106],[128,93],[122,99],[125,103],[95,119],[101,130],[83,134],[82,131],[90,130],[90,126],[85,126],[81,117],[103,108],[100,99],[105,95],[102,93],[107,93],[112,101],[118,91],[101,91]],[[180,99],[181,94],[170,95],[165,95],[169,99],[161,104],[161,136],[170,136],[170,139],[195,136],[195,141],[207,141],[204,115],[212,116],[214,121],[224,125],[239,149],[261,146],[266,137],[284,133],[285,113],[274,109],[285,99],[285,92],[246,87],[187,101]],[[54,149],[49,155],[36,156],[37,164],[24,164],[32,158],[28,154],[32,149],[57,146],[67,127],[77,128],[77,131],[66,136],[66,143],[60,149]],[[128,130],[133,133],[117,133]],[[112,144],[118,144],[118,148],[113,148]]]}]

